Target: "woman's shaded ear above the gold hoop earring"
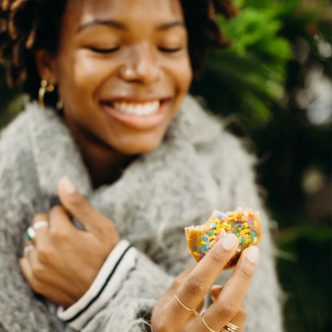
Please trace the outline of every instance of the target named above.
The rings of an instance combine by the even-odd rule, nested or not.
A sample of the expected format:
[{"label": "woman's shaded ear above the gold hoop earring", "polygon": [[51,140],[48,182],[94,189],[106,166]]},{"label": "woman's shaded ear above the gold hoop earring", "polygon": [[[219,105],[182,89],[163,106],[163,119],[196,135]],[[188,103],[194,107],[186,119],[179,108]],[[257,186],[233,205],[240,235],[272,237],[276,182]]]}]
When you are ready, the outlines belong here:
[{"label": "woman's shaded ear above the gold hoop earring", "polygon": [[39,77],[47,80],[48,84],[57,84],[55,56],[51,55],[48,50],[37,50],[35,59]]}]

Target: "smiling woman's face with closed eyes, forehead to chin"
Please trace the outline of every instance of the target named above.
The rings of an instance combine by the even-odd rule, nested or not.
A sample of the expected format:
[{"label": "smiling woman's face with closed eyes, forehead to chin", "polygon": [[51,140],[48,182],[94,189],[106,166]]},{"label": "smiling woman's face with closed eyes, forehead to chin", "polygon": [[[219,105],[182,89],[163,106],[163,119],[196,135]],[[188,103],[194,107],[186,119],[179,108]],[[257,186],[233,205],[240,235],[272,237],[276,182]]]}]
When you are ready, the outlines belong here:
[{"label": "smiling woman's face with closed eyes, forehead to chin", "polygon": [[69,0],[55,76],[77,135],[123,154],[155,149],[192,80],[178,0]]}]

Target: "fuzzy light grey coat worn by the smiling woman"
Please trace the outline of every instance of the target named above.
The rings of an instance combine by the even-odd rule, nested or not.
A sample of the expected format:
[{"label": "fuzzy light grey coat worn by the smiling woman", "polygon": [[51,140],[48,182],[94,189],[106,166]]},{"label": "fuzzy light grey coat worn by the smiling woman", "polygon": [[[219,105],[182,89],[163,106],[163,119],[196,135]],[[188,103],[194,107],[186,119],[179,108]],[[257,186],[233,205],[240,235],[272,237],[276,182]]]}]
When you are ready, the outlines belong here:
[{"label": "fuzzy light grey coat worn by the smiling woman", "polygon": [[[280,332],[282,315],[268,217],[255,184],[255,158],[221,121],[185,98],[163,143],[137,158],[116,183],[94,190],[73,137],[52,110],[29,104],[0,139],[0,331],[71,331],[56,306],[36,296],[20,272],[24,231],[48,212],[69,176],[138,250],[120,290],[82,331],[145,331],[156,299],[194,264],[183,228],[213,209],[261,211],[260,259],[246,295],[247,332]],[[221,273],[225,284],[231,271]]]}]

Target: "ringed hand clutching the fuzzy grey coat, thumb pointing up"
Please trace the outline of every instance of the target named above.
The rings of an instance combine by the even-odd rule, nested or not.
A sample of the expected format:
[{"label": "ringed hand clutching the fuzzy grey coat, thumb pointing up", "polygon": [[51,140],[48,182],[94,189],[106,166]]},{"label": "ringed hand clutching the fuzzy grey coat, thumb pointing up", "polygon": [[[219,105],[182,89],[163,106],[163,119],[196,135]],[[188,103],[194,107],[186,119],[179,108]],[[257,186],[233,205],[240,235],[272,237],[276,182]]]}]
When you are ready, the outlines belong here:
[{"label": "ringed hand clutching the fuzzy grey coat, thumb pointing up", "polygon": [[[35,292],[68,307],[89,289],[120,236],[114,223],[95,210],[68,178],[59,181],[58,192],[63,206],[35,216],[33,224],[47,221],[48,227],[36,230],[33,250],[19,264]],[[70,216],[86,231],[75,228]]]}]

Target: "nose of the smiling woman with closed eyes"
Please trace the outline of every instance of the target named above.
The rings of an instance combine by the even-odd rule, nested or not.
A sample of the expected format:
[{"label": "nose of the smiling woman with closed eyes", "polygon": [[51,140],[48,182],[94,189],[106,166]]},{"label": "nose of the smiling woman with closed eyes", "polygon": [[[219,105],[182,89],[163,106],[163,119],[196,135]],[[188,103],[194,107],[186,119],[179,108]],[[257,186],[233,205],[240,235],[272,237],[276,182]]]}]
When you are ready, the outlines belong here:
[{"label": "nose of the smiling woman with closed eyes", "polygon": [[154,50],[145,43],[132,46],[127,62],[120,68],[120,75],[127,82],[151,84],[160,79],[160,74]]}]

